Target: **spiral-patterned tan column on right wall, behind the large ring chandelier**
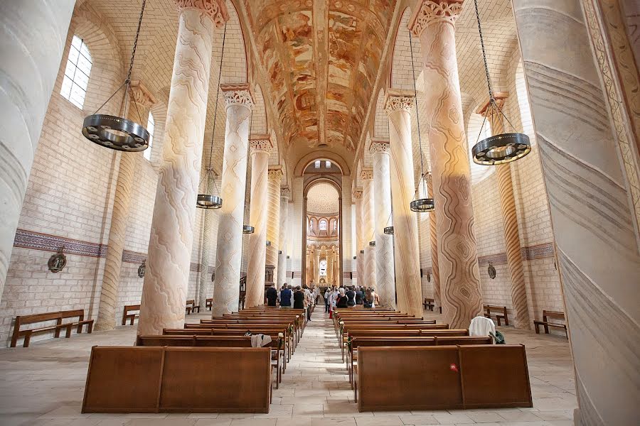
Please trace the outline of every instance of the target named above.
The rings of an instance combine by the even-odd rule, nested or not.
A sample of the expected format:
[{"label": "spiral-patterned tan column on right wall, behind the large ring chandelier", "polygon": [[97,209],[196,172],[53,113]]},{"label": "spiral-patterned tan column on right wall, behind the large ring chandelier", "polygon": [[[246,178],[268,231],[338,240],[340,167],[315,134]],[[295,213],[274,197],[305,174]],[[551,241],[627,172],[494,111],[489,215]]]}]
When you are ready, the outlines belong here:
[{"label": "spiral-patterned tan column on right wall, behind the large ring chandelier", "polygon": [[[506,92],[494,93],[494,99],[499,109],[504,108],[504,102],[509,96]],[[486,116],[491,124],[491,133],[499,135],[504,133],[503,117],[494,108],[489,109],[489,101],[477,109],[476,114]],[[520,234],[518,233],[518,217],[516,216],[516,198],[513,196],[513,182],[511,181],[511,164],[496,165],[498,177],[498,192],[500,193],[500,206],[502,212],[502,224],[504,232],[504,246],[506,248],[509,278],[511,278],[511,305],[516,317],[513,325],[519,329],[528,329],[529,307],[527,303],[527,290],[524,279],[524,267],[522,263],[522,251],[520,249]]]}]

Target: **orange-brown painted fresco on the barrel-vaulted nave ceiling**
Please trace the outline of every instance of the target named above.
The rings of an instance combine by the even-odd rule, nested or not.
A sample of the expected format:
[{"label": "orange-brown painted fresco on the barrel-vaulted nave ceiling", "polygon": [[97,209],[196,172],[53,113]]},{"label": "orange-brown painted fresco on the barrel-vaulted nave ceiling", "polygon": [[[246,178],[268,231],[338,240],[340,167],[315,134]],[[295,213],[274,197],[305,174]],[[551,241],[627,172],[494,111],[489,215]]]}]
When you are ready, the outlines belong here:
[{"label": "orange-brown painted fresco on the barrel-vaulted nave ceiling", "polygon": [[396,0],[243,1],[284,149],[351,162]]}]

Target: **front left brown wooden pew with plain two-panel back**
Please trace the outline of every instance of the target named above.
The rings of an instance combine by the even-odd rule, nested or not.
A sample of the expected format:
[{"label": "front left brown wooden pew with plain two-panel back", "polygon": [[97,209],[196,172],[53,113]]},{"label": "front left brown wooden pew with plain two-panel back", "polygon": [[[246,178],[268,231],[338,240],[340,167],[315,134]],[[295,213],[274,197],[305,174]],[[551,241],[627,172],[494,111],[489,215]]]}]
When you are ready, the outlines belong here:
[{"label": "front left brown wooden pew with plain two-panel back", "polygon": [[269,413],[271,374],[269,348],[93,346],[82,413]]}]

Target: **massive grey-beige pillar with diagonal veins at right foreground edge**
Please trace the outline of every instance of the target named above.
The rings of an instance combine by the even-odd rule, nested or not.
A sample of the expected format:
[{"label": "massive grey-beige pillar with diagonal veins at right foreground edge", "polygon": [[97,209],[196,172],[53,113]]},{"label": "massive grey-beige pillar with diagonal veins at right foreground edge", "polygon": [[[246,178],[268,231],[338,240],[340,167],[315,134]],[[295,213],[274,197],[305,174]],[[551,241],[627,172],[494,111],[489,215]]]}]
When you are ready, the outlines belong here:
[{"label": "massive grey-beige pillar with diagonal veins at right foreground edge", "polygon": [[575,423],[631,425],[640,400],[640,253],[629,182],[638,176],[627,169],[631,146],[614,133],[621,117],[607,116],[607,100],[618,108],[631,99],[603,87],[612,46],[590,35],[597,18],[587,3],[514,0],[513,9],[575,364]]}]

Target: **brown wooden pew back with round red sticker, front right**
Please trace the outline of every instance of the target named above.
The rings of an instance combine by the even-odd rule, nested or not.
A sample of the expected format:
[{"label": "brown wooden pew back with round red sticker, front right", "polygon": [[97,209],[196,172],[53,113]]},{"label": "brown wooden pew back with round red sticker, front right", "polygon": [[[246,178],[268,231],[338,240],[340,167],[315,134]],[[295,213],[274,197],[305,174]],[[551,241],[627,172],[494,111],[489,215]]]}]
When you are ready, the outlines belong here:
[{"label": "brown wooden pew back with round red sticker, front right", "polygon": [[361,412],[533,406],[523,345],[373,346],[358,352],[353,382]]}]

